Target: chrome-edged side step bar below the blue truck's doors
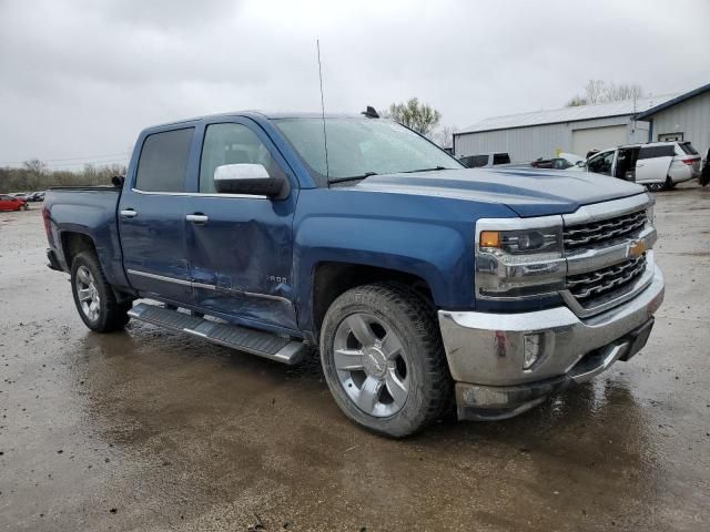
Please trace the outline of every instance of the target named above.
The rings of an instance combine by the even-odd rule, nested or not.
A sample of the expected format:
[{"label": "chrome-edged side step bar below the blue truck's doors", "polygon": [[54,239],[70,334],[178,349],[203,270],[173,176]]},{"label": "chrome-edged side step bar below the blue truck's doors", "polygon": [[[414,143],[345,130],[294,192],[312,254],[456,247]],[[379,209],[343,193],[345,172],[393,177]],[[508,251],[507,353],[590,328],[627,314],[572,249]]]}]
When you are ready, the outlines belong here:
[{"label": "chrome-edged side step bar below the blue truck's doors", "polygon": [[300,362],[306,346],[302,341],[284,338],[263,330],[197,318],[189,314],[140,303],[129,310],[140,321],[187,332],[222,346],[251,352],[290,366]]}]

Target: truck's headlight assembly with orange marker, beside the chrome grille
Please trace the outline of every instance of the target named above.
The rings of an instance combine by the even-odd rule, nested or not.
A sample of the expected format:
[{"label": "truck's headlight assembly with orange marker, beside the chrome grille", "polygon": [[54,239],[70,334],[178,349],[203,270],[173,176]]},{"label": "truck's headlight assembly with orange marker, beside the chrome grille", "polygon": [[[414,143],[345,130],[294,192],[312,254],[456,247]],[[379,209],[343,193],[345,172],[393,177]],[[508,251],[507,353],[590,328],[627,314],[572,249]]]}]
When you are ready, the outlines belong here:
[{"label": "truck's headlight assembly with orange marker, beside the chrome grille", "polygon": [[559,216],[480,219],[476,237],[477,297],[525,298],[565,288]]}]

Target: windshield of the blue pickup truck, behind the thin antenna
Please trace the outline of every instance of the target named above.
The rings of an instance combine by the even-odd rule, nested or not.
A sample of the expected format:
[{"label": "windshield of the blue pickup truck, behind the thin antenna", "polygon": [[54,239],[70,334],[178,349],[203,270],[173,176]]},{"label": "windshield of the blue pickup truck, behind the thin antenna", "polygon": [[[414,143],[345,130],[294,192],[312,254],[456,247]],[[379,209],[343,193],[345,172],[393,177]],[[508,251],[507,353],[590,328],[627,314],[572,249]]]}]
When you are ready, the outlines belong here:
[{"label": "windshield of the blue pickup truck, behind the thin antenna", "polygon": [[326,117],[326,170],[322,119],[275,119],[273,122],[321,184],[376,174],[464,167],[429,141],[395,122]]}]

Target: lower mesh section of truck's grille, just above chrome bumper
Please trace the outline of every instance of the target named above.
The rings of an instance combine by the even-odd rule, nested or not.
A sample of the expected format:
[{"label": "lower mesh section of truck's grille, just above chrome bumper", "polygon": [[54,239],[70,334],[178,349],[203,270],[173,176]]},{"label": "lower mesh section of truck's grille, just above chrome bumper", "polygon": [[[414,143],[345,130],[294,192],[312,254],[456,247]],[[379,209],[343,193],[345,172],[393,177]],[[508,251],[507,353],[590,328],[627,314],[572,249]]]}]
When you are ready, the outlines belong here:
[{"label": "lower mesh section of truck's grille, just above chrome bumper", "polygon": [[646,270],[646,253],[638,258],[625,260],[587,274],[567,277],[567,289],[582,307],[604,296],[620,296]]}]

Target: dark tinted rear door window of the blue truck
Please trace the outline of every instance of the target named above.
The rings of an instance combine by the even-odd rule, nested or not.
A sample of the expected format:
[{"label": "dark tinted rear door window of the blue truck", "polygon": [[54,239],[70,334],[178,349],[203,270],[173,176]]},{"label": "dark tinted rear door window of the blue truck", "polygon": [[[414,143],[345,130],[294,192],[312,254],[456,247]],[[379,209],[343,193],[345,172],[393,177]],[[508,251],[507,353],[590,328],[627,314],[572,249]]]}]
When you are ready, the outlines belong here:
[{"label": "dark tinted rear door window of the blue truck", "polygon": [[194,127],[154,133],[143,142],[135,188],[145,192],[183,192]]}]

